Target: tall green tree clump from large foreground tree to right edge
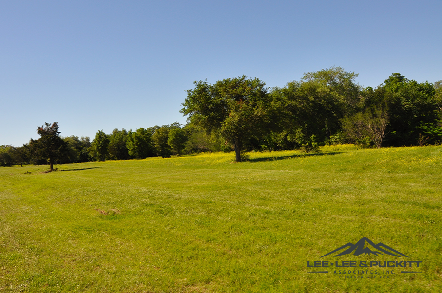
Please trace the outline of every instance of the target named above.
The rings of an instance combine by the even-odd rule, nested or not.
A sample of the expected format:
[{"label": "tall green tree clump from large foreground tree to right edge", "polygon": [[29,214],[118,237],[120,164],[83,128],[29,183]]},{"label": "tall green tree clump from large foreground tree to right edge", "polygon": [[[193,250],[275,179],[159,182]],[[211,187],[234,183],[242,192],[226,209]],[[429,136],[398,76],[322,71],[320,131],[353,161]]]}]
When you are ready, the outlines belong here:
[{"label": "tall green tree clump from large foreground tree to right edge", "polygon": [[[261,87],[265,92],[255,98],[244,94],[253,92],[245,85],[251,80],[244,76],[214,85],[199,81],[188,91],[181,112],[192,124],[233,146],[237,157],[241,150],[308,149],[313,135],[318,145],[345,139],[365,147],[413,145],[420,133],[434,132],[428,128],[423,133],[421,127],[437,129],[437,119],[442,118],[441,82],[417,83],[393,73],[378,88],[363,89],[355,82],[357,76],[331,67],[306,73],[299,82],[273,88],[270,94]],[[358,123],[363,133],[350,135],[349,126],[355,129]],[[429,134],[433,142],[434,133]]]}]

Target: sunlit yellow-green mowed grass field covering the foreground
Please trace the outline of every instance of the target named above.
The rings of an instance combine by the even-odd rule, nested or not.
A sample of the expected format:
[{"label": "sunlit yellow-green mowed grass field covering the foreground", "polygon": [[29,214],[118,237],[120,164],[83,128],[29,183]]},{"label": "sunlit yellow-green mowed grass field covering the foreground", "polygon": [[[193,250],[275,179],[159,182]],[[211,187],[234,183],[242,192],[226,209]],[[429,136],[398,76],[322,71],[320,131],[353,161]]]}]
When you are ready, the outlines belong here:
[{"label": "sunlit yellow-green mowed grass field covering the foreground", "polygon": [[[0,168],[0,292],[442,291],[441,146],[233,158]],[[364,236],[423,273],[307,273]]]}]

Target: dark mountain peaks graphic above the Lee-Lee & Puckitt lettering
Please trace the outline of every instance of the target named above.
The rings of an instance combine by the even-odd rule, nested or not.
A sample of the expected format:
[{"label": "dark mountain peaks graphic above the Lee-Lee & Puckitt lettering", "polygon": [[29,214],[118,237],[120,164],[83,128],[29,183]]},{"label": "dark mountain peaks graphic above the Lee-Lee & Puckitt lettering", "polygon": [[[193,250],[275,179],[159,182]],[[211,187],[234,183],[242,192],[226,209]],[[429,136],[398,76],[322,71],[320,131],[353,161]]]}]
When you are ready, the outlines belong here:
[{"label": "dark mountain peaks graphic above the Lee-Lee & Puckitt lettering", "polygon": [[[371,250],[368,246],[364,248],[365,243],[371,245],[371,247],[376,250]],[[374,244],[373,241],[371,241],[370,239],[368,239],[366,237],[361,238],[361,240],[356,242],[356,244],[348,242],[346,245],[343,245],[333,251],[330,251],[329,253],[327,253],[326,255],[323,255],[321,257],[331,255],[331,254],[336,253],[344,248],[347,248],[347,249],[344,250],[343,252],[341,252],[340,254],[337,254],[336,256],[348,255],[354,251],[353,255],[355,255],[355,256],[359,256],[362,254],[364,254],[364,255],[374,254],[375,256],[386,254],[386,255],[390,255],[390,256],[401,255],[401,256],[409,257],[409,256],[404,255],[403,253],[400,253],[397,250],[394,250],[393,248],[391,248],[389,246],[386,246],[384,243],[379,242],[378,244]],[[390,251],[385,250],[385,249],[388,249]]]}]

